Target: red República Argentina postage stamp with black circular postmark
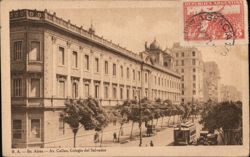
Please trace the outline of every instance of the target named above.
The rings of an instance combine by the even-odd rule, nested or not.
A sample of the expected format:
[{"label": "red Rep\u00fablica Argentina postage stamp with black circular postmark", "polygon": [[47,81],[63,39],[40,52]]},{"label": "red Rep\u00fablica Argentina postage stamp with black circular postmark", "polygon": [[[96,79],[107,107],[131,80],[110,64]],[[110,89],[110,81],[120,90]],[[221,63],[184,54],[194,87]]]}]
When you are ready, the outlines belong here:
[{"label": "red Rep\u00fablica Argentina postage stamp with black circular postmark", "polygon": [[243,0],[183,2],[184,41],[224,41],[246,38]]}]

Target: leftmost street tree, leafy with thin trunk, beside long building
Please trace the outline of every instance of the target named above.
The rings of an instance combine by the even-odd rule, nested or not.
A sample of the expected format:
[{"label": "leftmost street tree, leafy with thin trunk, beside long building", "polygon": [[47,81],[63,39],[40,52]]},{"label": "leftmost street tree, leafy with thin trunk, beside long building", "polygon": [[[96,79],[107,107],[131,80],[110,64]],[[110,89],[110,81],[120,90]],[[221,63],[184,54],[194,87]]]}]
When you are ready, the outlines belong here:
[{"label": "leftmost street tree, leafy with thin trunk, beside long building", "polygon": [[108,115],[99,102],[93,98],[86,100],[66,100],[65,109],[61,113],[64,122],[67,123],[74,134],[74,147],[76,146],[76,134],[80,124],[85,130],[102,131],[108,125]]}]

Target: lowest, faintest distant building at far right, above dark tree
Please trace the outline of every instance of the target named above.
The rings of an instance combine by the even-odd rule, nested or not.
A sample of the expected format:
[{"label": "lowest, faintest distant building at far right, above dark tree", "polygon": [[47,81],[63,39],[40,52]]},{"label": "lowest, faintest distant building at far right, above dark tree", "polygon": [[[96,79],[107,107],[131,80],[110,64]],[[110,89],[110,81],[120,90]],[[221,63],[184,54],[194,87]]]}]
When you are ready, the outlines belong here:
[{"label": "lowest, faintest distant building at far right, above dark tree", "polygon": [[223,101],[242,101],[242,93],[234,86],[221,84],[220,102]]}]

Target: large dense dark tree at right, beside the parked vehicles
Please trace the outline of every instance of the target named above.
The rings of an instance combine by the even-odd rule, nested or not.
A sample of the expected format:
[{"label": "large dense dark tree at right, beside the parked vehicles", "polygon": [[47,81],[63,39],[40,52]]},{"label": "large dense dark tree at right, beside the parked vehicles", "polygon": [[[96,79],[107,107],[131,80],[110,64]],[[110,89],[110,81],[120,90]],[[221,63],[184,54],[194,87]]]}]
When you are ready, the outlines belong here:
[{"label": "large dense dark tree at right, beside the parked vehicles", "polygon": [[215,129],[222,129],[224,144],[239,143],[239,139],[242,138],[241,102],[222,102],[211,107],[206,106],[206,111],[202,113],[200,123],[203,124],[205,129],[210,132],[214,132]]}]

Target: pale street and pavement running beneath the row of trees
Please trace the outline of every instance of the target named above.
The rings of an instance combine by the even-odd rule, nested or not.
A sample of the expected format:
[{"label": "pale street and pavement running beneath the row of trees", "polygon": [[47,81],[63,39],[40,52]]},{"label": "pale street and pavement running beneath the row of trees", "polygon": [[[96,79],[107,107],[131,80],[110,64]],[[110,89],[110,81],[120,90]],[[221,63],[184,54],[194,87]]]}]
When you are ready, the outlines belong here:
[{"label": "pale street and pavement running beneath the row of trees", "polygon": [[[175,122],[177,123],[177,116],[175,117]],[[174,118],[171,117],[164,117],[163,119],[163,127],[161,128],[161,119],[158,120],[157,123],[157,133],[152,135],[151,137],[145,137],[146,134],[146,127],[144,123],[142,124],[142,146],[150,146],[150,141],[153,142],[154,146],[168,146],[173,143],[173,120]],[[168,122],[169,121],[169,122]],[[170,126],[168,126],[168,123]],[[154,124],[156,124],[156,120],[154,120]],[[198,124],[198,119],[195,120],[196,129],[197,129],[197,137],[199,136],[199,130],[201,126]],[[103,135],[99,134],[99,138],[102,142],[94,143],[94,134],[95,131],[84,131],[82,134],[78,134],[76,138],[76,146],[77,147],[113,147],[113,146],[139,146],[139,127],[138,123],[134,124],[133,128],[133,138],[130,139],[132,123],[125,123],[123,125],[123,135],[120,136],[119,142],[113,142],[113,133],[116,132],[117,136],[119,133],[120,124],[117,123],[116,125],[109,124],[104,129]],[[47,144],[47,147],[72,147],[73,145],[73,136],[69,138],[65,138],[60,141],[52,142]]]}]

